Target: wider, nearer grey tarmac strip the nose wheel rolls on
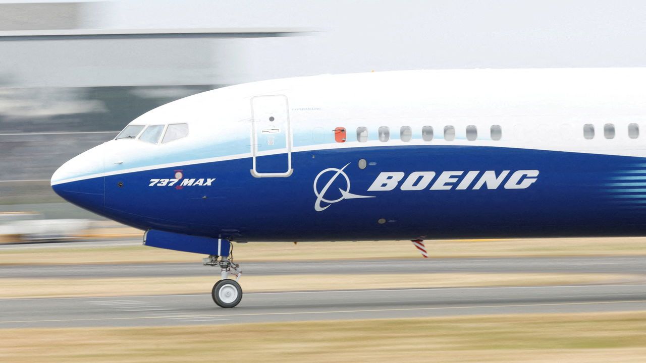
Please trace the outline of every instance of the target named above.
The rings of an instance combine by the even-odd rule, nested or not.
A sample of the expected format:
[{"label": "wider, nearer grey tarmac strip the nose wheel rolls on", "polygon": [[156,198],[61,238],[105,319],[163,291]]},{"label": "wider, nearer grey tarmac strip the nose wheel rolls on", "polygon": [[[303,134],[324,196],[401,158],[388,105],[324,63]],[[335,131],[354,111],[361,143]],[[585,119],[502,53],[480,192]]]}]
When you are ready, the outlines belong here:
[{"label": "wider, nearer grey tarmac strip the nose wheel rolls on", "polygon": [[646,284],[249,293],[233,309],[210,295],[0,300],[0,328],[176,326],[646,309]]}]

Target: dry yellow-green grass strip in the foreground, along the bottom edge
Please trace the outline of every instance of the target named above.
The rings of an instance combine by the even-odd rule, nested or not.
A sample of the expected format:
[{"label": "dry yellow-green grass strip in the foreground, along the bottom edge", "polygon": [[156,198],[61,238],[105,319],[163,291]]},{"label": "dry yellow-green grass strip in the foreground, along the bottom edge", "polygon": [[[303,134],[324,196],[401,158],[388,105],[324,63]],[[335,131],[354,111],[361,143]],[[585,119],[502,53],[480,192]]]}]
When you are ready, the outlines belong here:
[{"label": "dry yellow-green grass strip in the foreground, along the bottom edge", "polygon": [[0,329],[6,362],[644,362],[646,312]]}]

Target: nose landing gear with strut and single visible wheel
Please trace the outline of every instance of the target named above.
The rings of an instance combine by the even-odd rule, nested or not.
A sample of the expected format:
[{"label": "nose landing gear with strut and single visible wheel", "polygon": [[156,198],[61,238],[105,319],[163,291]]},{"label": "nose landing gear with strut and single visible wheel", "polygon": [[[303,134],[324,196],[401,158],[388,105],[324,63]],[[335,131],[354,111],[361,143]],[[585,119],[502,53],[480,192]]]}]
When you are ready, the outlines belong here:
[{"label": "nose landing gear with strut and single visible wheel", "polygon": [[[213,301],[220,307],[234,307],[240,304],[240,300],[242,300],[242,287],[238,284],[242,271],[238,269],[240,265],[233,263],[233,255],[229,254],[228,245],[230,245],[230,242],[226,242],[226,248],[218,248],[220,256],[211,254],[211,256],[204,258],[203,261],[204,265],[220,267],[220,281],[216,282],[211,290]],[[218,243],[221,242],[218,241]],[[229,278],[229,273],[235,274],[236,279]]]}]

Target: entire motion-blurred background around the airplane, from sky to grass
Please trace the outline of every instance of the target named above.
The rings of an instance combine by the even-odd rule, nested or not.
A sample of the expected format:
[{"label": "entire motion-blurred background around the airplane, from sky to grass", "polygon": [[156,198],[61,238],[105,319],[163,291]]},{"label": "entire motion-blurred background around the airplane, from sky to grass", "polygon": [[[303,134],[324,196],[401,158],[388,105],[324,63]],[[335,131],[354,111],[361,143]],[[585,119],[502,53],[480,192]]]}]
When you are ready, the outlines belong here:
[{"label": "entire motion-blurred background around the airplane, from sky to grass", "polygon": [[[201,256],[143,246],[49,182],[205,90],[645,67],[645,19],[643,0],[0,0],[0,361],[646,361],[644,237],[427,240],[428,259],[408,241],[236,244],[245,298],[225,311]],[[56,240],[75,242],[21,244]]]}]

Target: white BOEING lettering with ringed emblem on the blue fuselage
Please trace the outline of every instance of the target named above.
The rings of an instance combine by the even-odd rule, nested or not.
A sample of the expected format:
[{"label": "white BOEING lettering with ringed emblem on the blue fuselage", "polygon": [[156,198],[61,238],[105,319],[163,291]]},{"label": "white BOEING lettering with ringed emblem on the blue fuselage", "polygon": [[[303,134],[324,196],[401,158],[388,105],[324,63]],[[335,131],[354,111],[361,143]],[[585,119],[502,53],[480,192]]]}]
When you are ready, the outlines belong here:
[{"label": "white BOEING lettering with ringed emblem on the blue fuselage", "polygon": [[[365,196],[359,194],[352,194],[350,192],[350,179],[348,174],[343,170],[350,165],[349,163],[341,169],[328,168],[318,173],[314,179],[314,194],[317,200],[314,203],[314,209],[317,212],[324,211],[332,203],[340,202],[344,199],[356,198],[375,198],[375,196]],[[318,190],[318,180],[329,174],[330,178],[328,183]],[[368,192],[384,192],[392,191],[395,188],[401,191],[421,191],[428,189],[431,191],[449,191],[449,190],[478,190],[478,189],[498,189],[503,186],[503,189],[526,189],[533,183],[537,182],[537,170],[519,170],[519,171],[501,171],[496,172],[488,171],[443,171],[438,173],[434,171],[415,171],[406,176],[405,172],[380,172],[374,182],[368,187]],[[325,198],[329,187],[335,182],[337,177],[342,175],[346,180],[346,189],[339,188],[341,196],[337,199]],[[404,177],[406,178],[404,179]],[[437,176],[437,178],[435,178]],[[401,182],[403,180],[403,182]],[[401,182],[401,185],[400,185]],[[433,182],[433,183],[432,183]],[[430,185],[430,187],[429,187]],[[326,203],[327,205],[321,205]]]}]

